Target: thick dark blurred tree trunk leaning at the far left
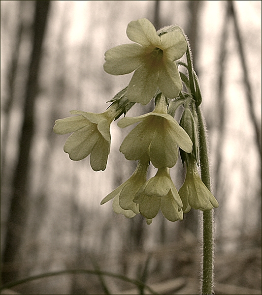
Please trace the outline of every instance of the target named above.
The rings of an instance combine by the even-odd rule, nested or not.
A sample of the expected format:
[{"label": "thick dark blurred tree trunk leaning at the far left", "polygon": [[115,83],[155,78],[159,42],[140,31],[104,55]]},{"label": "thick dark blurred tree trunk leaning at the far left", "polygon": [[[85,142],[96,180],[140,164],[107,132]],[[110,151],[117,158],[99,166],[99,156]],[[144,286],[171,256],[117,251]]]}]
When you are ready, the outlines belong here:
[{"label": "thick dark blurred tree trunk leaning at the far left", "polygon": [[[50,1],[34,1],[35,15],[33,22],[32,53],[30,57],[26,97],[24,103],[24,119],[19,141],[18,160],[13,178],[13,192],[7,220],[5,244],[1,269],[2,283],[16,280],[19,275],[19,249],[28,211],[28,175],[30,171],[30,149],[34,130],[34,103],[37,95],[38,74],[42,53],[44,32],[47,23]],[[6,266],[11,266],[7,269]]]}]

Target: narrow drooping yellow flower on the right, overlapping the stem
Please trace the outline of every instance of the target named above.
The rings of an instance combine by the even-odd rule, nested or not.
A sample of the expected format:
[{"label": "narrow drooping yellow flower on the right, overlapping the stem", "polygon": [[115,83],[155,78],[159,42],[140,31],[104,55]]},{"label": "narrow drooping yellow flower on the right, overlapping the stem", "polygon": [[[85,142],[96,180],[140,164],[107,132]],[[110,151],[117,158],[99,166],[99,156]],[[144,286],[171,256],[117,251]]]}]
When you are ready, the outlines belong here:
[{"label": "narrow drooping yellow flower on the right, overlapping the stem", "polygon": [[183,202],[184,213],[189,212],[191,207],[206,211],[219,206],[216,198],[199,177],[193,156],[188,161],[186,179],[178,193]]}]

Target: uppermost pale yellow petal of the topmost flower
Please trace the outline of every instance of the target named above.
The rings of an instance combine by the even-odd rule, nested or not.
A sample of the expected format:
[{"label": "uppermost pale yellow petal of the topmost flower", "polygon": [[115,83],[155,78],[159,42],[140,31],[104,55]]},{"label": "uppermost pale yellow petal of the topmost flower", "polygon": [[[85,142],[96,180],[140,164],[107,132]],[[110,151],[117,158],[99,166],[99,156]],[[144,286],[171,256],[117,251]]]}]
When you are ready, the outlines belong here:
[{"label": "uppermost pale yellow petal of the topmost flower", "polygon": [[127,28],[127,35],[131,41],[141,44],[142,46],[160,46],[160,37],[155,27],[145,18],[130,22]]}]

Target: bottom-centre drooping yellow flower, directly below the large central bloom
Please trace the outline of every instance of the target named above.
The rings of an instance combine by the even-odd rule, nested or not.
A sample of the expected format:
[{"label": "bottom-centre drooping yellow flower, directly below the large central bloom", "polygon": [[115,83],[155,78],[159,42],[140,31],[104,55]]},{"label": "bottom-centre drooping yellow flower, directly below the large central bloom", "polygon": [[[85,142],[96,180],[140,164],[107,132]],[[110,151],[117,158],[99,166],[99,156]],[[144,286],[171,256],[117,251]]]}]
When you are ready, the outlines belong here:
[{"label": "bottom-centre drooping yellow flower, directly below the large central bloom", "polygon": [[169,168],[158,169],[137,192],[133,202],[139,204],[139,212],[146,218],[154,218],[159,209],[169,221],[183,219],[183,204],[171,180]]}]

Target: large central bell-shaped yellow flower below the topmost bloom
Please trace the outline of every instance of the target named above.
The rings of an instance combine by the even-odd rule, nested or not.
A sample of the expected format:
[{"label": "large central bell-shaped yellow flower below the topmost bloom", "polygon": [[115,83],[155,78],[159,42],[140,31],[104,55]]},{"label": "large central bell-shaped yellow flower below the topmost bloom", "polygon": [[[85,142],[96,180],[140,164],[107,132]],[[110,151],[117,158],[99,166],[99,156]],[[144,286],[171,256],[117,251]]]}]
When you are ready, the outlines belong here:
[{"label": "large central bell-shaped yellow flower below the topmost bloom", "polygon": [[177,145],[190,153],[193,143],[178,122],[166,114],[164,95],[158,96],[161,98],[156,99],[153,112],[133,118],[125,117],[118,122],[121,128],[140,122],[124,139],[120,151],[128,160],[138,160],[148,152],[156,168],[171,168],[178,158]]}]

